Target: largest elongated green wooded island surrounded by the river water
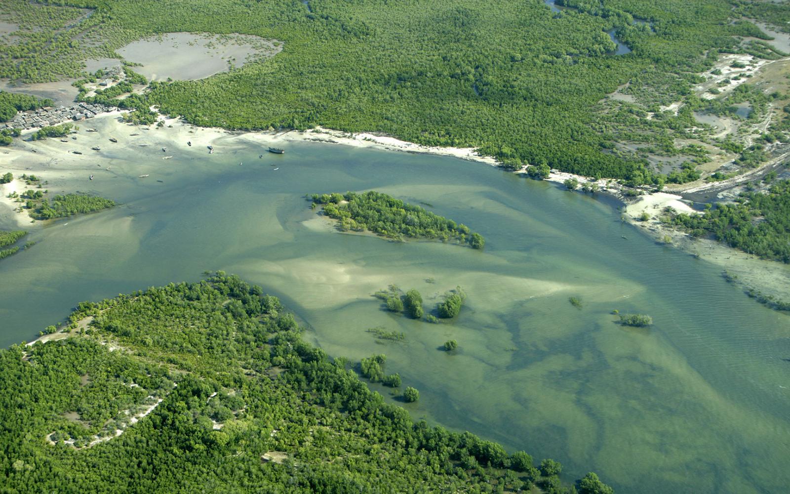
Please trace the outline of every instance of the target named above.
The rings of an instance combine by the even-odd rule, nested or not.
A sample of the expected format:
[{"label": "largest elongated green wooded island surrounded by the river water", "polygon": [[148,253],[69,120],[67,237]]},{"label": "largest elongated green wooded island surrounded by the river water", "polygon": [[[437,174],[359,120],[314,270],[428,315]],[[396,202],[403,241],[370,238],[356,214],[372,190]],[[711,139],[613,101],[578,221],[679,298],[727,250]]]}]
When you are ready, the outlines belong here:
[{"label": "largest elongated green wooded island surrounded by the river water", "polygon": [[450,239],[469,243],[476,249],[485,244],[483,236],[472,233],[465,224],[441,217],[425,209],[371,190],[357,194],[313,194],[313,204],[321,204],[324,213],[339,221],[340,229],[363,232],[370,230],[390,239]]}]

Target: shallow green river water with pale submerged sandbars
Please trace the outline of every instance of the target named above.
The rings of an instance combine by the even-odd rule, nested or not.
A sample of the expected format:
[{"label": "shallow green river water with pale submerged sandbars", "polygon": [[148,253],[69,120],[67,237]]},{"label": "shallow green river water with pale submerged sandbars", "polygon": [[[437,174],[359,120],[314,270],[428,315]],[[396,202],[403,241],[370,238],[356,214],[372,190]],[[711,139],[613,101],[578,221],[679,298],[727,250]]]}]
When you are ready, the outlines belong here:
[{"label": "shallow green river water with pale submerged sandbars", "polygon": [[[386,371],[420,391],[413,417],[555,458],[568,479],[784,491],[790,317],[589,196],[447,157],[287,146],[262,159],[252,145],[105,155],[112,172],[81,187],[122,205],[33,232],[36,246],[0,262],[0,344],[32,339],[81,300],[226,270],[280,296],[330,355],[386,353]],[[486,247],[340,234],[304,198],[367,189],[426,203]],[[390,284],[417,288],[427,308],[461,285],[467,304],[446,324],[404,319],[371,297]],[[613,309],[655,324],[619,326]],[[376,326],[406,340],[381,344],[365,332]],[[450,338],[457,352],[440,351]]]}]

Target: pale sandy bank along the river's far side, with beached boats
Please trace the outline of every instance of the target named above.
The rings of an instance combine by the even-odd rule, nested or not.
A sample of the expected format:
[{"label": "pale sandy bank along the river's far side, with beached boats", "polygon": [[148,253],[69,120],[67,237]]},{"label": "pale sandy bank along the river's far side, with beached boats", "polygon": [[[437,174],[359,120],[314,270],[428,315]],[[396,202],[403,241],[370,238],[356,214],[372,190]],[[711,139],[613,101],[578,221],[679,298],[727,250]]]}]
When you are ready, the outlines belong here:
[{"label": "pale sandy bank along the river's far side, with beached boats", "polygon": [[[118,178],[125,175],[126,179],[156,180],[156,170],[167,164],[168,156],[182,153],[194,155],[221,156],[233,152],[239,145],[259,145],[261,153],[267,153],[269,146],[286,149],[289,142],[316,141],[340,145],[350,145],[356,148],[382,149],[388,151],[401,151],[404,153],[434,154],[438,156],[452,156],[462,160],[475,161],[490,166],[498,167],[500,164],[491,156],[480,156],[471,148],[439,148],[418,145],[408,141],[401,141],[388,136],[370,133],[350,134],[338,130],[316,128],[299,131],[288,130],[283,132],[236,132],[216,127],[198,127],[185,123],[180,119],[160,117],[161,125],[135,126],[122,121],[122,111],[115,111],[98,115],[91,119],[90,125],[96,128],[95,132],[88,132],[81,127],[77,134],[65,139],[50,138],[43,141],[15,140],[0,154],[0,166],[13,172],[15,177],[22,173],[41,175],[47,181],[45,188],[55,193],[73,192],[73,184],[85,182],[86,187],[90,176],[95,175],[95,180]],[[76,137],[76,139],[72,139]],[[111,142],[115,138],[118,142]],[[142,146],[156,149],[158,159],[148,159],[145,162],[130,168],[128,164],[115,163],[113,160],[115,149],[122,146]],[[209,146],[213,149],[209,153]],[[92,150],[100,147],[99,151]],[[161,151],[160,151],[161,150]],[[74,153],[77,151],[76,154]],[[101,156],[100,164],[96,164],[96,156]],[[210,159],[210,158],[209,158]],[[525,174],[524,169],[516,171]],[[143,178],[141,175],[149,175]],[[618,204],[626,206],[623,220],[634,224],[646,235],[656,241],[667,243],[670,239],[673,247],[679,248],[706,262],[720,266],[734,274],[745,287],[756,288],[766,294],[782,294],[790,292],[790,268],[778,262],[764,261],[754,256],[746,255],[724,244],[709,239],[693,239],[684,232],[667,228],[660,223],[658,217],[665,207],[693,213],[693,209],[683,202],[683,198],[675,194],[663,192],[645,193],[638,198],[626,197],[623,187],[613,179],[591,180],[587,177],[573,175],[565,172],[552,171],[546,179],[548,182],[562,186],[568,179],[577,179],[579,187],[585,183],[589,186],[596,184],[596,194],[603,194],[614,198]],[[68,184],[68,185],[66,185]],[[11,184],[2,187],[0,197],[0,226],[5,228],[36,228],[27,212],[17,211],[19,203],[6,196],[17,191],[26,190],[25,184],[14,180]],[[615,206],[616,207],[616,206]],[[649,213],[649,220],[641,221],[641,213]],[[36,221],[35,223],[40,223]]]}]

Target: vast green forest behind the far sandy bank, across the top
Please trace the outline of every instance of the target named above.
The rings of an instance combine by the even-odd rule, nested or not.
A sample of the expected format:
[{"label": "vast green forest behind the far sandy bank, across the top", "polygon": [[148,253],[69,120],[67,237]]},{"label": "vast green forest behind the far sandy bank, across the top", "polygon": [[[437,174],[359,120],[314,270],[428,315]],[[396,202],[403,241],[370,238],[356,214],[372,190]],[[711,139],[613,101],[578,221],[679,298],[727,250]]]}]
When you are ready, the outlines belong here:
[{"label": "vast green forest behind the far sandy bank, across the top", "polygon": [[[284,50],[206,80],[152,84],[130,118],[148,120],[156,104],[205,126],[375,131],[632,183],[660,175],[641,156],[609,152],[612,142],[672,148],[693,117],[659,105],[690,96],[721,54],[777,58],[749,19],[790,17],[786,3],[735,0],[565,0],[574,9],[560,13],[541,0],[57,3],[3,2],[19,30],[0,40],[0,77],[79,78],[81,59],[143,36],[240,32]],[[612,55],[612,29],[628,55]],[[619,87],[636,103],[601,103]]]}]

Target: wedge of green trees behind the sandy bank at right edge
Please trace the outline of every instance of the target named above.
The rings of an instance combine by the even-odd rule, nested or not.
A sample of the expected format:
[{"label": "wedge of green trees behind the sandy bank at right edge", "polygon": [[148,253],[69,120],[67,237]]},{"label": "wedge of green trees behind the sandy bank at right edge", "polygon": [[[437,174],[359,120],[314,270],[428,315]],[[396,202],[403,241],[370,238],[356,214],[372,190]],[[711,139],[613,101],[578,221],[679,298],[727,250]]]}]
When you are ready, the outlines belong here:
[{"label": "wedge of green trees behind the sandy bank at right edge", "polygon": [[693,236],[711,234],[741,251],[790,262],[790,180],[765,193],[740,194],[735,204],[718,203],[704,214],[668,214],[664,221]]}]

